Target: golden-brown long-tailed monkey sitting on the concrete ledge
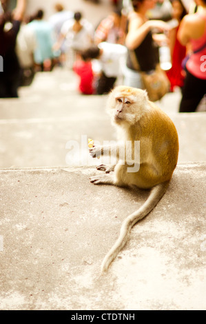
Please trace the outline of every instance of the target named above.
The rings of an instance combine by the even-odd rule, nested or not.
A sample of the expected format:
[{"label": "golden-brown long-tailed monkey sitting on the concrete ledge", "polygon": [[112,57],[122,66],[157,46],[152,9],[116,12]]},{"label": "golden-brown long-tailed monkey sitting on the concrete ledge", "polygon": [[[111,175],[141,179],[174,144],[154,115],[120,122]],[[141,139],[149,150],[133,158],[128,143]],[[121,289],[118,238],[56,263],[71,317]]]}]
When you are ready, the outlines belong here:
[{"label": "golden-brown long-tailed monkey sitting on the concrete ledge", "polygon": [[[100,165],[97,169],[105,170],[106,174],[91,176],[90,182],[94,185],[141,188],[150,190],[150,194],[145,203],[123,221],[119,238],[103,259],[101,274],[107,272],[124,247],[134,224],[147,216],[165,194],[176,168],[179,150],[174,123],[155,103],[149,101],[146,90],[118,85],[108,94],[106,110],[119,138],[116,147],[108,145],[106,149],[108,154],[116,154],[118,161],[111,169]],[[130,161],[123,161],[124,156],[120,154],[126,141],[140,143],[138,161],[134,161],[138,168],[134,172],[130,172]],[[92,157],[101,156],[104,152],[105,147],[101,145],[90,148]],[[132,156],[133,159],[134,145]]]}]

